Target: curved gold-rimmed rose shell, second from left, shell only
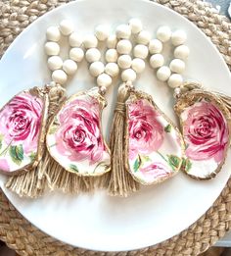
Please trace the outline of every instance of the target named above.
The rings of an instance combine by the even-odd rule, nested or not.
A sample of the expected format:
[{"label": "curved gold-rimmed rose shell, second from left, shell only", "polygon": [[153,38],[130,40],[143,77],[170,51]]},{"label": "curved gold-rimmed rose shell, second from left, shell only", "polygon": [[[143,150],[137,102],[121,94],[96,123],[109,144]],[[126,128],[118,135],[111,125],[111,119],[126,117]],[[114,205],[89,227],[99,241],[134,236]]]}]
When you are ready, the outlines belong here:
[{"label": "curved gold-rimmed rose shell, second from left, shell only", "polygon": [[47,132],[50,155],[68,172],[101,176],[110,171],[110,150],[103,138],[101,114],[106,106],[98,88],[69,97]]}]

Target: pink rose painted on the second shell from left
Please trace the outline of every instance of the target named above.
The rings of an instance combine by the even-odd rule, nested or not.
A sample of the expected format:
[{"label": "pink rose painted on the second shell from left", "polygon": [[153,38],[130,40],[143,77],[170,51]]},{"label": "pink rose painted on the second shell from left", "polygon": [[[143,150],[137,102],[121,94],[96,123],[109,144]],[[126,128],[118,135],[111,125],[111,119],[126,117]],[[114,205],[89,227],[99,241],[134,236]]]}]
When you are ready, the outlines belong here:
[{"label": "pink rose painted on the second shell from left", "polygon": [[57,150],[70,161],[88,160],[90,164],[102,160],[105,144],[100,131],[100,106],[88,96],[75,99],[60,112],[60,128],[56,133]]}]

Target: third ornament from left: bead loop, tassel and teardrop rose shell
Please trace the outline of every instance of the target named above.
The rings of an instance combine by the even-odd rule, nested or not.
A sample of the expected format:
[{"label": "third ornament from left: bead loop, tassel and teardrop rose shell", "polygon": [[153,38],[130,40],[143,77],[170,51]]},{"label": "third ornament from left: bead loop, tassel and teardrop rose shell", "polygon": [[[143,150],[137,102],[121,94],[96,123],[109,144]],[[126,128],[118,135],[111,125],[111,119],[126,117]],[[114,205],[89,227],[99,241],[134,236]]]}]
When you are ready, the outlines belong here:
[{"label": "third ornament from left: bead loop, tassel and teardrop rose shell", "polygon": [[[150,95],[134,88],[137,74],[145,69],[150,42],[149,33],[137,24],[141,25],[140,21],[134,23],[132,19],[128,26],[115,29],[120,54],[117,64],[123,83],[118,87],[111,130],[112,172],[105,186],[111,194],[120,196],[138,190],[139,184],[152,185],[170,179],[180,170],[184,158],[184,143],[178,129]],[[133,59],[129,56],[132,44],[130,48],[125,45],[132,33],[136,33]]]}]

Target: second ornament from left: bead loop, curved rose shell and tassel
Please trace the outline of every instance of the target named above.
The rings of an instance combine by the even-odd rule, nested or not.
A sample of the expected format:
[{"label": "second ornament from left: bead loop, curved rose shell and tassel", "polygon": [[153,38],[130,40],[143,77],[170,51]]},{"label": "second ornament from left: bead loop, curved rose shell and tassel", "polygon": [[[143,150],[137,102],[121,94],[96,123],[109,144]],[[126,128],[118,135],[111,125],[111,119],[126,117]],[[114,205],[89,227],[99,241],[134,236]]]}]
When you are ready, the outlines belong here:
[{"label": "second ornament from left: bead loop, curved rose shell and tassel", "polygon": [[[70,96],[58,108],[48,128],[46,145],[53,164],[49,165],[52,168],[46,176],[52,189],[92,191],[101,186],[102,179],[108,180],[107,173],[111,171],[111,151],[102,133],[101,116],[107,105],[105,93],[119,69],[114,58],[115,46],[110,49],[108,45],[105,58],[108,63],[100,62],[101,53],[96,47],[98,39],[103,40],[101,28],[96,27],[95,35],[83,41],[89,72],[96,77],[98,86]],[[77,37],[70,39],[74,44],[72,39]]]}]

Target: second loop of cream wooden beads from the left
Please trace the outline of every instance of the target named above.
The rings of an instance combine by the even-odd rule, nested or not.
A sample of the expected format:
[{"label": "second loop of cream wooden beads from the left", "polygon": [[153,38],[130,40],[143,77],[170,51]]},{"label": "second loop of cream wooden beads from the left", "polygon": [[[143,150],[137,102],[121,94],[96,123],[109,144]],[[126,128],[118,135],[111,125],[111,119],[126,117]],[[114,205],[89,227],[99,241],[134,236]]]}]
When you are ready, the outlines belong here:
[{"label": "second loop of cream wooden beads from the left", "polygon": [[[107,41],[107,51],[105,59],[107,64],[105,65],[101,61],[101,53],[96,48],[99,41]],[[96,81],[100,90],[105,93],[107,88],[112,84],[113,77],[116,77],[119,73],[117,67],[117,52],[115,50],[116,37],[109,35],[108,26],[97,26],[95,29],[95,35],[88,36],[84,41],[84,46],[88,48],[85,57],[86,61],[90,64],[89,71],[91,76],[96,77]]]}]

